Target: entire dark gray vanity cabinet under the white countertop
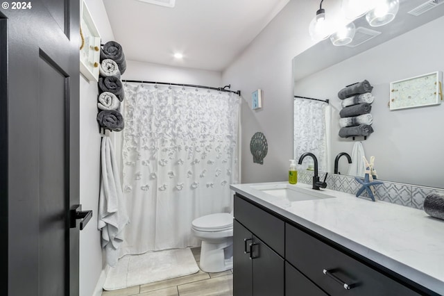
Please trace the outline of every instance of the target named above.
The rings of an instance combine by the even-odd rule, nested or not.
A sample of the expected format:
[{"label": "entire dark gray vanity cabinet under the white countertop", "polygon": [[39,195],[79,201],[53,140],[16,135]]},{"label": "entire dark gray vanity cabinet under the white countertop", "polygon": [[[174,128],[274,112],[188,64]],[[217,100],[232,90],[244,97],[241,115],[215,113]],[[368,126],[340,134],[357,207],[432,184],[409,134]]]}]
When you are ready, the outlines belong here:
[{"label": "entire dark gray vanity cabinet under the white countertop", "polygon": [[234,296],[438,295],[234,196]]}]

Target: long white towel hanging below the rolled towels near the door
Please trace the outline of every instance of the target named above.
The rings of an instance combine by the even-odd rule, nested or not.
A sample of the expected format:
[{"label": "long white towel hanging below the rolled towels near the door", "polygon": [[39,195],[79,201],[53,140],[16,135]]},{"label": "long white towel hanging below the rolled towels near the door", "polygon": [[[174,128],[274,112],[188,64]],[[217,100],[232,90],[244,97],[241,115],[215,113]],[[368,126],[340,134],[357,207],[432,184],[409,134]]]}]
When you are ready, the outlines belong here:
[{"label": "long white towel hanging below the rolled towels near the door", "polygon": [[102,138],[101,186],[99,196],[98,228],[102,231],[102,247],[108,265],[114,266],[119,258],[119,247],[123,242],[123,228],[129,223],[123,202],[117,161],[109,137]]}]

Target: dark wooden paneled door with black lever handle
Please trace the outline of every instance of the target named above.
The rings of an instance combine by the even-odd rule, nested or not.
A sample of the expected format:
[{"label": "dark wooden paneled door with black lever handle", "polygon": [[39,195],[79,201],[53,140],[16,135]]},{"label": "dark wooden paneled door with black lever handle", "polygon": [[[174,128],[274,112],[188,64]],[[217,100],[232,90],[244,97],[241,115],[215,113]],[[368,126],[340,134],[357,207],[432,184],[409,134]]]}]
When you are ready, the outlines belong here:
[{"label": "dark wooden paneled door with black lever handle", "polygon": [[78,295],[79,2],[0,8],[0,281],[10,296]]}]

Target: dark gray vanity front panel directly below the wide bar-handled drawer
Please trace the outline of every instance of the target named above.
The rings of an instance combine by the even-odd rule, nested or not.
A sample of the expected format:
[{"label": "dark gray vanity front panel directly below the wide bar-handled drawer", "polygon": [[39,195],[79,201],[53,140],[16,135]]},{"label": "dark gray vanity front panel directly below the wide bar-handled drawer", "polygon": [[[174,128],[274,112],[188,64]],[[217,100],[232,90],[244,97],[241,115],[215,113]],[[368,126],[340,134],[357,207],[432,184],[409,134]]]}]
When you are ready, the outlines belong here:
[{"label": "dark gray vanity front panel directly below the wide bar-handled drawer", "polygon": [[288,262],[285,263],[285,295],[328,296]]}]

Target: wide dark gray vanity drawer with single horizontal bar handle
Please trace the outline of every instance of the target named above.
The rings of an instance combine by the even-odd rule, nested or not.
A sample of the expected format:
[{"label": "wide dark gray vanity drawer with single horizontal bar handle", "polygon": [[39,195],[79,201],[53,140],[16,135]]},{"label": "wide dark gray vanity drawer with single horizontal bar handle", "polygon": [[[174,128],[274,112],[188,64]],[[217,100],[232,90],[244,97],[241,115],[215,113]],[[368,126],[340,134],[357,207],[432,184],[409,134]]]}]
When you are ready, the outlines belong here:
[{"label": "wide dark gray vanity drawer with single horizontal bar handle", "polygon": [[[287,261],[332,296],[420,295],[290,224],[286,226],[285,249]],[[350,290],[345,290],[343,283],[351,286]]]}]

